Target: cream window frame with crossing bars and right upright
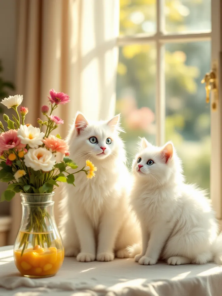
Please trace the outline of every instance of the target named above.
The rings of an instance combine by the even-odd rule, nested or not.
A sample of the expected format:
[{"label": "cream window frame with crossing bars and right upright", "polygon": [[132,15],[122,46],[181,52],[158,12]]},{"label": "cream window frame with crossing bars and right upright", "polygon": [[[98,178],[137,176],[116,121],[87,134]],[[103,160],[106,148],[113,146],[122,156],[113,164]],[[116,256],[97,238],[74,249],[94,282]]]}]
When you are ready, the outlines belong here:
[{"label": "cream window frame with crossing bars and right upright", "polygon": [[[157,51],[156,71],[156,144],[161,146],[165,142],[165,77],[164,77],[164,45],[167,43],[182,43],[196,41],[211,41],[211,68],[217,68],[218,109],[211,108],[211,160],[210,160],[210,197],[216,217],[222,229],[222,4],[221,0],[211,0],[211,30],[200,33],[166,34],[164,33],[164,0],[156,0],[157,29],[154,35],[136,34],[119,36],[118,46],[130,44],[146,44],[154,42]],[[210,71],[210,69],[209,69]],[[204,87],[204,86],[203,86]],[[211,96],[213,94],[211,93]],[[203,98],[204,100],[205,98]]]}]

